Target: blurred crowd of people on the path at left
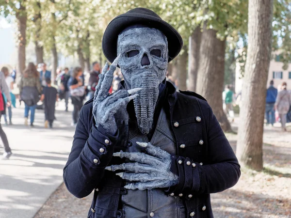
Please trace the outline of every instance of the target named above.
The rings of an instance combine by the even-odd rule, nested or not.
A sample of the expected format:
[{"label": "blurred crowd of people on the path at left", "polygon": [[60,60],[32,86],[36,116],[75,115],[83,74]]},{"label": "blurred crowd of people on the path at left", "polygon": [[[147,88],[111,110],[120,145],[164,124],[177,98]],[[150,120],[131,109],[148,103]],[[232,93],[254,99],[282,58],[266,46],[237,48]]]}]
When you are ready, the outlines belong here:
[{"label": "blurred crowd of people on the path at left", "polygon": [[[83,73],[81,67],[69,69],[58,68],[57,74],[52,78],[51,72],[47,69],[46,63],[37,66],[30,62],[21,77],[18,79],[20,105],[24,103],[24,125],[34,126],[34,115],[36,109],[44,110],[44,126],[52,128],[55,117],[56,102],[65,101],[65,111],[68,111],[68,104],[73,105],[72,126],[76,126],[81,107],[85,101],[94,97],[96,86],[99,81],[101,67],[98,62],[93,62],[92,71]],[[120,70],[113,75],[113,84],[110,93],[117,90],[119,82],[123,79]],[[12,107],[16,107],[16,96],[12,93],[16,83],[16,71],[9,72],[7,67],[2,67],[0,72],[0,112],[5,119],[6,125],[12,123]],[[6,116],[8,110],[8,119]],[[30,119],[29,119],[30,118]],[[8,122],[9,121],[9,122]],[[5,152],[3,158],[8,159],[11,155],[6,134],[0,124],[0,137],[4,144]]]}]

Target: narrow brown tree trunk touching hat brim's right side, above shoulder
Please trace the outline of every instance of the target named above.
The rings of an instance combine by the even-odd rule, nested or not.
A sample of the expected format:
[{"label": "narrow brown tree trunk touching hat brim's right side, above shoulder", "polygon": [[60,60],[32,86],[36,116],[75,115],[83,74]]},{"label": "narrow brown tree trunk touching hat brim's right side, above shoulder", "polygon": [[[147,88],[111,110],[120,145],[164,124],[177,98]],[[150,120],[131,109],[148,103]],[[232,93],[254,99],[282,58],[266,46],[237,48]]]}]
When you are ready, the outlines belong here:
[{"label": "narrow brown tree trunk touching hat brim's right side, above shoulder", "polygon": [[178,87],[179,90],[186,91],[186,80],[187,80],[187,47],[183,47],[183,54],[178,56]]}]

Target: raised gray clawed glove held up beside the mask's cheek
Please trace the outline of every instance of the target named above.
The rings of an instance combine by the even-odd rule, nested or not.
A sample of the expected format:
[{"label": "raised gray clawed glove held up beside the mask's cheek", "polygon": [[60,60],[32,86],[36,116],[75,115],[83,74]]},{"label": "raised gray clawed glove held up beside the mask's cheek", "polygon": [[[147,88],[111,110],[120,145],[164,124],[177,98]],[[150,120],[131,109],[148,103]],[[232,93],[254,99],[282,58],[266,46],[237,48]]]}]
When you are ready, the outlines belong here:
[{"label": "raised gray clawed glove held up beside the mask's cheek", "polygon": [[[108,63],[102,69],[102,73],[99,75],[99,82],[96,86],[93,101],[93,116],[96,122],[96,126],[101,125],[106,132],[114,135],[117,131],[117,126],[114,118],[114,114],[118,109],[126,106],[129,101],[135,98],[138,94],[130,95],[141,90],[140,88],[131,90],[119,90],[109,95],[109,90],[113,81],[113,73],[116,69],[119,56],[113,61],[112,65],[108,69]],[[129,96],[130,95],[130,96]]]}]

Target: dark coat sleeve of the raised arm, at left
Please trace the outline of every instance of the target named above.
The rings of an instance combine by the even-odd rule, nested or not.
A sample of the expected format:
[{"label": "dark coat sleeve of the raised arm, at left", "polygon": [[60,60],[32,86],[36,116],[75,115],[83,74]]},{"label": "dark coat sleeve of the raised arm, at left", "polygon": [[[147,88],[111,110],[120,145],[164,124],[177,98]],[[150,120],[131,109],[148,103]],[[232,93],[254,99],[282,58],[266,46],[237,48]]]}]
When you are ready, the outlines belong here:
[{"label": "dark coat sleeve of the raised arm, at left", "polygon": [[[87,125],[85,121],[88,119],[84,119],[83,109],[84,107],[80,112],[72,150],[63,174],[67,189],[77,198],[89,195],[100,183],[104,169],[113,156],[117,140],[117,136],[102,134],[102,131],[97,129],[94,124],[88,131],[85,127]],[[100,148],[103,148],[104,151],[100,152]]]}]

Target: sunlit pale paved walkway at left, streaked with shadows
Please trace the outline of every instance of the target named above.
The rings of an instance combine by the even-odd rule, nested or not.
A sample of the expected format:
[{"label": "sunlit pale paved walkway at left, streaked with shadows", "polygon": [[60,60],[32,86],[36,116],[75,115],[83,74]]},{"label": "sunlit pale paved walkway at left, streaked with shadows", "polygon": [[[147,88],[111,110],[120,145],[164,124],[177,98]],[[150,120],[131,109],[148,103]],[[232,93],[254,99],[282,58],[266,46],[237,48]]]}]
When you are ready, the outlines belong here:
[{"label": "sunlit pale paved walkway at left, streaked with shadows", "polygon": [[32,218],[63,182],[74,134],[71,112],[64,109],[62,102],[54,129],[44,128],[43,110],[36,110],[33,128],[23,125],[23,108],[13,109],[14,125],[4,125],[2,117],[13,156],[0,159],[0,218]]}]

